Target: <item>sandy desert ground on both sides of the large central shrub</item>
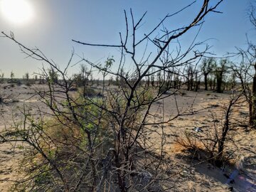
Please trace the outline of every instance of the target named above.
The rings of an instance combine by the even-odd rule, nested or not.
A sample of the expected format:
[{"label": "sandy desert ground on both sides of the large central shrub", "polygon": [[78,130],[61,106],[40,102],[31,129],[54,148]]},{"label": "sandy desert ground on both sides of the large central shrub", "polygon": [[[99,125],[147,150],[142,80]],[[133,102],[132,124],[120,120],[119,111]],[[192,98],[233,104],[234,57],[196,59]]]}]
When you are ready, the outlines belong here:
[{"label": "sandy desert ground on both sides of the large central shrub", "polygon": [[[36,87],[43,89],[42,85],[36,85]],[[1,85],[0,92],[4,92],[5,95],[11,95],[14,98],[13,101],[0,105],[0,131],[14,127],[14,122],[22,119],[22,114],[19,110],[22,110],[24,104],[30,106],[34,113],[38,110],[37,106],[40,106],[41,110],[47,110],[38,101],[38,97],[33,97],[33,86],[6,86],[6,89],[4,89],[4,85]],[[236,144],[233,156],[235,159],[244,156],[245,162],[242,170],[234,179],[235,183],[229,185],[226,184],[228,181],[227,175],[230,176],[233,173],[235,166],[227,165],[221,170],[207,162],[198,164],[199,157],[199,159],[191,159],[189,157],[190,154],[184,152],[182,147],[175,142],[177,138],[183,137],[184,132],[200,134],[195,131],[196,127],[199,127],[203,132],[206,132],[206,129],[213,129],[215,119],[220,119],[218,124],[222,124],[223,109],[228,104],[230,94],[216,94],[205,91],[186,92],[186,90],[182,90],[182,92],[183,94],[177,92],[175,96],[159,100],[152,107],[152,116],[149,120],[149,122],[168,121],[177,112],[183,114],[170,122],[166,122],[166,124],[149,126],[150,129],[156,130],[155,134],[148,136],[156,151],[160,149],[157,144],[161,143],[157,142],[157,139],[160,138],[161,132],[164,131],[166,134],[165,152],[171,156],[174,167],[177,167],[177,170],[183,170],[176,179],[175,188],[171,188],[170,191],[230,191],[228,189],[230,187],[233,187],[233,191],[256,191],[255,131],[247,130],[244,127],[238,127],[233,131],[232,137]],[[238,109],[235,113],[237,116],[234,118],[245,122],[247,107],[239,105],[236,109]],[[17,147],[19,145],[21,144],[15,144],[16,150],[14,151],[13,146],[10,144],[0,144],[0,191],[9,191],[9,187],[12,184],[11,181],[22,176],[18,165],[21,164],[21,159],[23,158],[23,149],[22,147]],[[233,145],[228,146],[228,149],[233,150]],[[186,169],[192,164],[197,165]],[[170,174],[174,174],[175,171],[171,170]]]}]

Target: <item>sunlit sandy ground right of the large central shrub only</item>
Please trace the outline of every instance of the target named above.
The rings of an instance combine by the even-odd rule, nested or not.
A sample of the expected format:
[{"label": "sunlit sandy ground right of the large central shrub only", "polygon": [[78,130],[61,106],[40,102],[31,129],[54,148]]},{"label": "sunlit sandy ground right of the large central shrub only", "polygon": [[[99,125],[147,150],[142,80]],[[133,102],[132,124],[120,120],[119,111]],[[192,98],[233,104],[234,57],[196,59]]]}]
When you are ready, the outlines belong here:
[{"label": "sunlit sandy ground right of the large central shrub only", "polygon": [[[183,170],[177,178],[176,188],[171,191],[256,191],[256,132],[249,130],[248,127],[235,126],[230,131],[229,137],[233,139],[225,149],[232,154],[234,166],[225,164],[222,169],[203,162],[203,153],[198,151],[194,158],[187,153],[184,148],[177,144],[175,140],[186,139],[184,133],[198,134],[210,132],[215,124],[216,127],[223,125],[225,108],[228,106],[230,94],[216,94],[213,92],[186,92],[185,95],[176,95],[154,105],[152,113],[155,115],[150,122],[158,122],[161,117],[165,120],[171,119],[177,114],[188,114],[178,117],[169,123],[154,125],[157,134],[149,135],[149,140],[154,140],[154,145],[161,143],[161,132],[166,134],[167,156],[170,156],[174,162],[174,169]],[[176,105],[176,102],[177,105]],[[176,107],[177,106],[177,107]],[[178,109],[178,110],[177,110]],[[193,115],[190,115],[193,114]],[[172,114],[172,115],[171,115]],[[230,118],[233,122],[247,121],[247,106],[245,103],[239,103],[234,107]],[[200,132],[196,131],[199,128]],[[159,139],[159,142],[155,140]],[[153,142],[152,142],[153,144]],[[200,144],[198,143],[198,146]],[[159,151],[160,146],[156,146]],[[244,159],[242,167],[235,176],[232,183],[228,183],[228,176],[234,174],[240,160]],[[190,169],[188,166],[194,165]],[[173,171],[174,173],[177,171]]]}]

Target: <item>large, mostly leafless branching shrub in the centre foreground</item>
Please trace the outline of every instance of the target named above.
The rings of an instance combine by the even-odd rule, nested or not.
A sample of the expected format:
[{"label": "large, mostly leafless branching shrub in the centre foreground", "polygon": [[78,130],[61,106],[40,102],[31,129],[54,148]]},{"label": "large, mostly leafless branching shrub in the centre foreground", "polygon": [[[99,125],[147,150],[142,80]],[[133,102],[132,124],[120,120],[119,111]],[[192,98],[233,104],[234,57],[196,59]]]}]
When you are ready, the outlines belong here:
[{"label": "large, mostly leafless branching shrub in the centre foreground", "polygon": [[[48,90],[38,91],[38,95],[51,110],[54,123],[48,126],[43,119],[36,123],[29,111],[24,110],[23,125],[17,124],[12,134],[1,135],[1,142],[26,142],[33,149],[31,154],[34,153],[43,159],[39,164],[33,164],[28,178],[20,183],[26,183],[26,187],[36,191],[45,188],[53,191],[102,191],[103,188],[105,191],[163,191],[167,185],[163,173],[169,164],[163,155],[166,134],[162,125],[180,115],[190,113],[180,112],[177,107],[176,114],[168,118],[162,114],[162,117],[156,118],[151,107],[156,102],[175,95],[177,91],[171,83],[166,86],[166,74],[176,68],[177,75],[184,77],[182,69],[197,62],[207,52],[208,46],[203,50],[198,49],[201,43],[193,43],[183,51],[181,46],[174,47],[174,51],[170,50],[170,43],[191,28],[201,26],[210,12],[218,12],[215,9],[222,0],[213,4],[210,2],[212,1],[203,1],[191,22],[178,29],[159,28],[166,20],[192,6],[194,2],[174,14],[167,14],[156,27],[145,33],[143,38],[138,39],[137,33],[146,13],[135,21],[130,10],[129,16],[124,11],[126,31],[124,35],[119,34],[119,45],[82,43],[73,40],[85,46],[119,48],[120,58],[115,59],[115,63],[118,63],[117,68],[112,68],[114,61],[111,59],[107,59],[102,65],[81,58],[81,62],[87,63],[102,74],[100,98],[84,97],[79,94],[75,96],[70,93],[74,79],[68,77],[67,70],[73,54],[66,68],[60,70],[40,50],[27,48],[16,41],[14,36],[3,32],[6,38],[20,46],[23,53],[50,65],[50,73],[43,69],[42,74],[48,80]],[[139,48],[146,47],[147,43],[156,48],[156,54],[145,55],[145,50],[144,55],[137,55]],[[132,61],[133,70],[126,69],[126,57]],[[163,74],[162,80],[158,86],[149,88],[144,80],[156,77],[156,74]],[[115,76],[119,87],[105,87],[107,75]],[[55,81],[52,76],[60,80]],[[154,121],[150,121],[151,119]],[[150,141],[146,139],[147,134],[157,132],[149,129],[152,125],[161,127],[159,152],[154,151],[149,145]],[[53,134],[48,132],[49,129],[60,130],[63,137],[53,137]],[[31,162],[34,160],[32,158]]]}]

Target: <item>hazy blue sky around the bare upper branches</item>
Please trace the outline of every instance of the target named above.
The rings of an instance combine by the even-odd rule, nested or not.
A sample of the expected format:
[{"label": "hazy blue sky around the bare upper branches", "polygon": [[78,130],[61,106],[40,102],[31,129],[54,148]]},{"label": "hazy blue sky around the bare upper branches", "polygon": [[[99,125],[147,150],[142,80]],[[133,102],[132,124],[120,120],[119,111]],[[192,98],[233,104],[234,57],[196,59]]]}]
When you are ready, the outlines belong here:
[{"label": "hazy blue sky around the bare upper branches", "polygon": [[[4,1],[0,0],[0,30],[6,33],[14,32],[17,41],[29,48],[40,48],[48,58],[53,59],[60,67],[64,67],[75,49],[78,55],[84,55],[92,62],[115,55],[113,48],[95,48],[78,45],[72,39],[87,43],[119,44],[119,32],[125,32],[124,9],[132,8],[134,18],[139,18],[147,11],[144,23],[139,33],[143,35],[154,27],[166,14],[173,14],[190,4],[191,0],[22,0],[28,7],[18,6],[15,10],[21,15],[15,17],[10,8],[3,8]],[[22,2],[21,1],[21,2]],[[216,1],[216,0],[214,0]],[[213,2],[214,2],[213,1]],[[17,3],[17,2],[16,2]],[[196,15],[202,0],[189,7],[181,14],[166,22],[170,30],[185,26]],[[234,52],[235,47],[245,47],[248,33],[251,39],[256,39],[255,30],[247,18],[250,0],[224,0],[218,7],[223,14],[211,13],[206,16],[197,41],[207,41],[213,46],[211,51],[216,56]],[[22,10],[26,9],[26,15]],[[28,9],[28,10],[27,10]],[[19,12],[18,12],[19,13]],[[23,21],[19,21],[21,17]],[[18,22],[19,21],[19,22]],[[186,46],[193,40],[195,31],[183,36],[180,41]],[[11,71],[17,78],[26,72],[38,72],[42,63],[26,58],[10,40],[0,38],[0,73],[9,78]],[[78,60],[78,57],[74,59]],[[70,69],[75,73],[78,66]]]}]

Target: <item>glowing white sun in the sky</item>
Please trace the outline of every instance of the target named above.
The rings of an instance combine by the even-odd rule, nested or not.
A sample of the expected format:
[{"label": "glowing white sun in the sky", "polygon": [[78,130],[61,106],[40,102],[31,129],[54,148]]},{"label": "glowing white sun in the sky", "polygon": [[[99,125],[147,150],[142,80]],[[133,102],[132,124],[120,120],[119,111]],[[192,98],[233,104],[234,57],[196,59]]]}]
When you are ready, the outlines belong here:
[{"label": "glowing white sun in the sky", "polygon": [[11,23],[23,25],[33,18],[33,9],[26,0],[0,0],[1,14]]}]

